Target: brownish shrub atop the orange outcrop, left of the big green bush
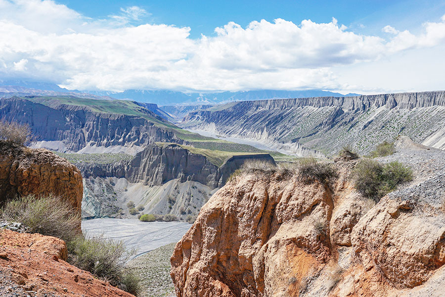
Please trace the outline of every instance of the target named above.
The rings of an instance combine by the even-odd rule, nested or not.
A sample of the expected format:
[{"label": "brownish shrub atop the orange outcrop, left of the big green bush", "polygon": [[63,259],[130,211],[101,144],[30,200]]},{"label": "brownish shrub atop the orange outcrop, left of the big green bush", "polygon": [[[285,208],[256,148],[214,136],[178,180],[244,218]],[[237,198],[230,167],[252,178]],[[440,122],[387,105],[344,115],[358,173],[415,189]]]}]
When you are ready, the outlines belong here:
[{"label": "brownish shrub atop the orange outcrop, left of the big green bush", "polygon": [[303,179],[309,182],[317,180],[320,183],[325,183],[337,177],[337,172],[332,164],[317,162],[315,158],[300,159],[297,167]]}]

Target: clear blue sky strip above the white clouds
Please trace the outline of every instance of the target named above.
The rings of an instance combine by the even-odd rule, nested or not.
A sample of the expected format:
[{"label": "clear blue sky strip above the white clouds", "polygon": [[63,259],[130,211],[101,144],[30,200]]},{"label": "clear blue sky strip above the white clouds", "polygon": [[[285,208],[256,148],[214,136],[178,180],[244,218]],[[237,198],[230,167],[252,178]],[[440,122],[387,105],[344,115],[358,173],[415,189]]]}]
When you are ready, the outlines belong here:
[{"label": "clear blue sky strip above the white clouds", "polygon": [[294,23],[311,19],[317,23],[330,22],[335,17],[340,23],[357,32],[377,33],[386,25],[417,29],[425,21],[440,19],[445,1],[433,0],[257,0],[257,1],[110,1],[61,0],[68,7],[93,18],[106,18],[121,7],[138,6],[150,15],[138,23],[172,24],[190,27],[190,37],[211,36],[216,27],[233,21],[247,26],[253,20],[273,21],[282,18]]}]

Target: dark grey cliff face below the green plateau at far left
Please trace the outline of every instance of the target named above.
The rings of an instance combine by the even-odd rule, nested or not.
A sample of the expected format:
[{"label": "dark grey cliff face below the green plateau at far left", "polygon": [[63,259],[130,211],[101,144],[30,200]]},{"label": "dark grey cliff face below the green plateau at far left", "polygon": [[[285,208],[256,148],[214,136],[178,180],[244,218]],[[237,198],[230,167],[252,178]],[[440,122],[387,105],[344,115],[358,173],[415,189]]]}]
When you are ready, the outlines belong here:
[{"label": "dark grey cliff face below the green plateau at far left", "polygon": [[[56,100],[54,100],[56,101]],[[147,110],[147,116],[158,117]],[[85,106],[51,106],[27,99],[0,99],[0,118],[28,123],[38,145],[58,151],[92,152],[101,147],[116,151],[142,150],[155,141],[177,140],[175,134],[139,116],[94,112]],[[179,140],[178,140],[179,141]]]}]

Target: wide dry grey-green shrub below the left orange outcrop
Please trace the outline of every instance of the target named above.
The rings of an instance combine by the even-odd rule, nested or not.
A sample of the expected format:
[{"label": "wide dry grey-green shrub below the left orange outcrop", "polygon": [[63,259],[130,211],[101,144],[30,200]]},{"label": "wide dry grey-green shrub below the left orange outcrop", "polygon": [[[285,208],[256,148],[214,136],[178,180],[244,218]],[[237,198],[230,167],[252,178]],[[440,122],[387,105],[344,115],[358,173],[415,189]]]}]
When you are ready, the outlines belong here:
[{"label": "wide dry grey-green shrub below the left orange outcrop", "polygon": [[63,198],[29,195],[8,200],[0,211],[6,221],[21,222],[31,233],[58,237],[70,241],[80,233],[81,217]]}]

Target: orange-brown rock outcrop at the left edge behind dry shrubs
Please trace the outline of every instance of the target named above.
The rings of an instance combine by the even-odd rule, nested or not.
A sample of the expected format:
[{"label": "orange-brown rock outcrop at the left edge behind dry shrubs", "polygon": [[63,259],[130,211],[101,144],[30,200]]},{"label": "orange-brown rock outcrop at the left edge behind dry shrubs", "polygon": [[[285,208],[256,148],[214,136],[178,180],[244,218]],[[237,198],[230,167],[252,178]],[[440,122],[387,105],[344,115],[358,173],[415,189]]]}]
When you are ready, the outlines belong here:
[{"label": "orange-brown rock outcrop at the left edge behind dry shrubs", "polygon": [[82,202],[80,171],[49,150],[0,143],[0,202],[27,195],[56,195],[79,212]]}]

